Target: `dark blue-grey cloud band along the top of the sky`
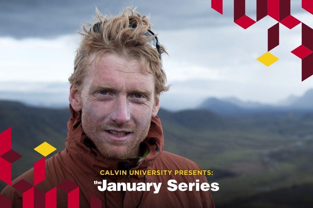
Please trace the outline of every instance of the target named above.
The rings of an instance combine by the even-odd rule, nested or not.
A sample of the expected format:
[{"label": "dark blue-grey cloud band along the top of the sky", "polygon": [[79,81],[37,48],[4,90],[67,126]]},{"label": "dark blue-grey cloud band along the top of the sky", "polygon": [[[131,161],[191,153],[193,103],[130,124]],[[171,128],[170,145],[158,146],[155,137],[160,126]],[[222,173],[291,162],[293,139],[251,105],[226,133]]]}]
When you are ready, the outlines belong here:
[{"label": "dark blue-grey cloud band along the top of the sky", "polygon": [[[230,0],[224,1],[223,16],[211,9],[209,0],[2,0],[0,36],[49,38],[74,33],[80,29],[82,22],[92,22],[91,14],[95,7],[104,13],[110,11],[117,14],[129,5],[137,6],[142,14],[150,13],[156,30],[215,27],[233,23],[233,1]],[[302,11],[298,4],[293,3],[293,6],[293,12]],[[255,2],[247,2],[246,10],[248,15],[255,17]]]}]

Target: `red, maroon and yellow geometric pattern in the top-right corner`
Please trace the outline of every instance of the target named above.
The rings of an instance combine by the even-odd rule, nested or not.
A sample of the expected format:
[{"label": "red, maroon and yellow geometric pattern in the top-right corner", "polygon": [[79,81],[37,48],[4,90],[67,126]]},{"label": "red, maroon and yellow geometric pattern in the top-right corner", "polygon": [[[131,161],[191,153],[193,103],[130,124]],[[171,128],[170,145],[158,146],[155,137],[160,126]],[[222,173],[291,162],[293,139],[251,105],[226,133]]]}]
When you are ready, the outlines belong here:
[{"label": "red, maroon and yellow geometric pattern in the top-right corner", "polygon": [[[256,21],[245,14],[245,0],[233,0],[234,23],[247,29],[262,18],[269,16],[277,21],[277,24],[268,29],[268,52],[279,45],[279,25],[292,29],[301,23],[300,20],[290,14],[290,0],[256,0]],[[301,7],[313,14],[313,0],[301,0]],[[211,0],[211,7],[223,14],[223,0]],[[302,45],[291,53],[302,60],[302,81],[313,75],[313,29],[302,23]],[[271,53],[264,53],[257,60],[266,66],[276,61]],[[274,62],[270,62],[274,61]]]}]

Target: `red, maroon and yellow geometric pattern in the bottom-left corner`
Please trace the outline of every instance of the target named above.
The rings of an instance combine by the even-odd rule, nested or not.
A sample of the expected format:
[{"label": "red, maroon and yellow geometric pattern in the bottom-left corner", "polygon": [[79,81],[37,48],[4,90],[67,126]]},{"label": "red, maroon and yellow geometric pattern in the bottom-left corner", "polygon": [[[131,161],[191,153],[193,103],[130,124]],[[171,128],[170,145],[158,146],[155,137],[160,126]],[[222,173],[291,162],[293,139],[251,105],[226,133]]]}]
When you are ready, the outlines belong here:
[{"label": "red, maroon and yellow geometric pattern in the bottom-left corner", "polygon": [[[11,164],[18,160],[21,156],[11,149],[12,132],[11,128],[0,133],[0,179],[11,186]],[[40,154],[47,156],[56,149],[47,142],[37,146],[34,150]],[[57,208],[57,187],[65,191],[68,196],[68,207],[79,208],[79,186],[70,180],[60,183],[57,187],[44,193],[35,186],[45,179],[45,157],[34,163],[34,184],[30,184],[25,180],[20,180],[12,187],[22,193],[23,208]],[[99,199],[90,196],[92,208],[99,206]],[[100,201],[101,202],[101,201]],[[11,208],[12,202],[3,195],[0,195],[0,207]]]}]

